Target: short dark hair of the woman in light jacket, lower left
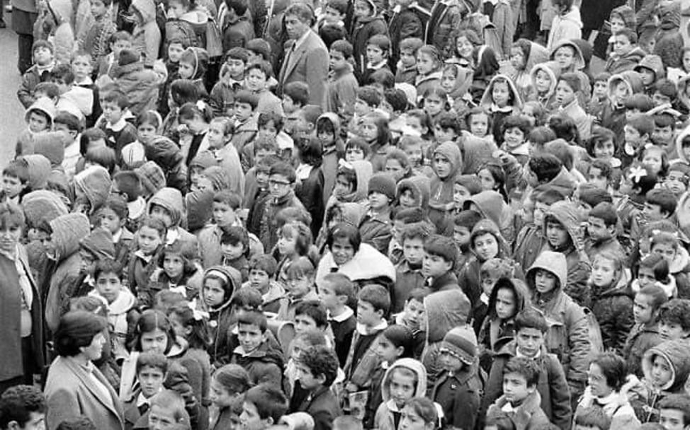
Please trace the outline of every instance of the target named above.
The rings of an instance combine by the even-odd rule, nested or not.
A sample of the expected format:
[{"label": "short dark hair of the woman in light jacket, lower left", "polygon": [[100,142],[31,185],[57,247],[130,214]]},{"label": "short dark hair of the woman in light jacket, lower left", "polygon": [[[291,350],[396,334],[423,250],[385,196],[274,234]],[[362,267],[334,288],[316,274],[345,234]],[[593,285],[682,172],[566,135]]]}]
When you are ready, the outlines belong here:
[{"label": "short dark hair of the woman in light jacket, lower left", "polygon": [[72,310],[60,318],[55,332],[55,351],[63,357],[76,356],[94,337],[108,328],[108,322],[86,310]]}]

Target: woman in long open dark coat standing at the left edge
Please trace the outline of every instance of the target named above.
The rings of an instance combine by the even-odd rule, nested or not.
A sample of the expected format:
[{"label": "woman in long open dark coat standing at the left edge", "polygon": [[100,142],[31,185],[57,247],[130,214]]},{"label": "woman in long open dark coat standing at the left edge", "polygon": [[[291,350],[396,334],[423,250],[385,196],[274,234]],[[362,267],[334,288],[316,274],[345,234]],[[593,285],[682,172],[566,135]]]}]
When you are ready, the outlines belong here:
[{"label": "woman in long open dark coat standing at the left edge", "polygon": [[19,243],[24,226],[20,207],[0,204],[0,393],[43,368],[43,309]]}]

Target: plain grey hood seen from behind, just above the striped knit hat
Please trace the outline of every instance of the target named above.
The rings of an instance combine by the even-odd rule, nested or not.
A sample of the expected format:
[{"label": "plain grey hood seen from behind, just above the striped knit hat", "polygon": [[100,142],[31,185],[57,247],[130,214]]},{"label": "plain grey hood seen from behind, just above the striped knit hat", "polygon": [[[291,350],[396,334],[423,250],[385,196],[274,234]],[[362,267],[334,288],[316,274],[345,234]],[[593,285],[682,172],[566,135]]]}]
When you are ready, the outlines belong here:
[{"label": "plain grey hood seen from behind, just above the striped knit hat", "polygon": [[470,314],[470,300],[461,289],[437,291],[424,298],[426,339],[441,342],[453,327],[464,325]]}]

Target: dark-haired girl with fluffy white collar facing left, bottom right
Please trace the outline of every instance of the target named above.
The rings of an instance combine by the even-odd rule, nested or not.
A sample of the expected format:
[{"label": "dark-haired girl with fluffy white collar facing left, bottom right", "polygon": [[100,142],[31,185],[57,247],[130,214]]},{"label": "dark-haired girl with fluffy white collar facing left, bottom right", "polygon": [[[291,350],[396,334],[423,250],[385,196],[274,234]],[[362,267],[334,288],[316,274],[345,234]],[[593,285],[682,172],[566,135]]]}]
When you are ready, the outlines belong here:
[{"label": "dark-haired girl with fluffy white collar facing left, bottom right", "polygon": [[638,428],[640,421],[622,390],[627,375],[628,366],[621,356],[613,352],[597,356],[589,364],[587,388],[575,409],[575,416],[586,407],[599,406],[611,419],[611,430]]}]

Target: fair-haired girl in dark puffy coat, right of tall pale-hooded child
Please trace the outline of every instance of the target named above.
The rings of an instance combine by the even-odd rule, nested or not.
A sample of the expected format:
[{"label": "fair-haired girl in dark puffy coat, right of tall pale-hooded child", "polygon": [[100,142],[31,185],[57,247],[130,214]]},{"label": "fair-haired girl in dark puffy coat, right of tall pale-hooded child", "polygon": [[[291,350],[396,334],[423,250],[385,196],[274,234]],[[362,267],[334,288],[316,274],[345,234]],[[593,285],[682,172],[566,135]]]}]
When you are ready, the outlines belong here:
[{"label": "fair-haired girl in dark puffy coat, right of tall pale-hooded child", "polygon": [[622,256],[609,251],[595,255],[589,288],[592,291],[592,313],[601,327],[604,348],[621,354],[634,324],[633,300],[628,292]]}]

